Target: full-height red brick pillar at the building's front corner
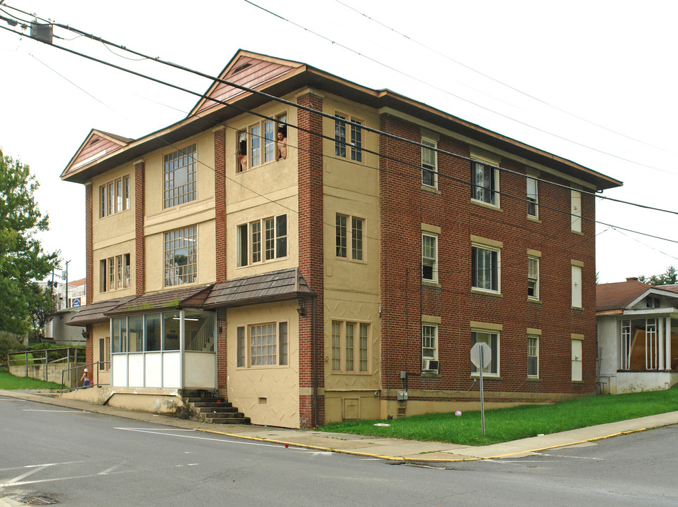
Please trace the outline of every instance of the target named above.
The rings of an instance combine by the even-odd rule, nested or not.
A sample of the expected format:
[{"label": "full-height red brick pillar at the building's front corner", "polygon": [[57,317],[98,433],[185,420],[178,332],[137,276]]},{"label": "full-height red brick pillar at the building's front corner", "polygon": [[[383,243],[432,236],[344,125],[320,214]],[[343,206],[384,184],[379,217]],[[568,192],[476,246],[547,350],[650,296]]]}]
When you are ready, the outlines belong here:
[{"label": "full-height red brick pillar at the building's front corner", "polygon": [[[299,104],[322,110],[322,99],[313,94],[299,97]],[[299,110],[298,124],[312,132],[322,132],[322,118]],[[318,358],[315,379],[318,389],[324,386],[322,343],[324,341],[323,312],[323,258],[322,258],[322,139],[299,130],[299,269],[301,275],[318,299],[315,305],[315,344],[313,343],[310,301],[306,301],[306,316],[299,318],[299,387],[309,391],[313,387],[313,346]],[[318,396],[318,420],[314,414],[312,395],[302,394],[299,400],[301,427],[322,425],[325,406]]]}]

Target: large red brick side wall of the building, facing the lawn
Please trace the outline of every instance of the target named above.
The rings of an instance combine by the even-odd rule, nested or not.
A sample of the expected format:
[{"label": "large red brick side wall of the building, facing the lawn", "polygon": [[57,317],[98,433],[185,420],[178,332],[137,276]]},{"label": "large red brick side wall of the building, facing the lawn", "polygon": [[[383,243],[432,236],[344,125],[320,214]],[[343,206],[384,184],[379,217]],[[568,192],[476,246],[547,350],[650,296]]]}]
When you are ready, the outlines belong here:
[{"label": "large red brick side wall of the building, facing the lawn", "polygon": [[[390,115],[382,130],[420,140],[420,128]],[[470,156],[470,146],[441,135],[440,149]],[[417,146],[382,137],[382,154],[421,163]],[[503,159],[502,168],[525,174],[525,165]],[[421,187],[420,171],[381,159],[382,223],[382,389],[400,389],[401,370],[410,389],[477,390],[470,377],[470,321],[503,325],[499,338],[500,380],[485,377],[486,392],[579,394],[595,391],[595,238],[594,223],[583,234],[570,230],[570,191],[539,183],[539,219],[527,220],[525,201],[501,195],[501,211],[470,202],[470,162],[439,154],[439,193]],[[456,180],[444,177],[452,176]],[[543,173],[542,178],[565,180]],[[525,177],[501,172],[502,193],[526,197]],[[563,210],[558,213],[549,208]],[[594,217],[594,199],[582,199],[584,218]],[[438,239],[440,287],[420,282],[421,224],[441,227]],[[471,292],[470,236],[503,242],[501,296]],[[541,303],[527,301],[527,249],[541,251]],[[571,308],[571,259],[584,262],[584,310]],[[441,318],[438,329],[439,377],[422,377],[420,315]],[[527,327],[541,329],[539,382],[527,382]],[[582,384],[571,382],[570,334],[584,334]],[[394,394],[390,393],[391,396]],[[451,399],[454,395],[450,394]],[[410,397],[410,399],[412,399]]]}]

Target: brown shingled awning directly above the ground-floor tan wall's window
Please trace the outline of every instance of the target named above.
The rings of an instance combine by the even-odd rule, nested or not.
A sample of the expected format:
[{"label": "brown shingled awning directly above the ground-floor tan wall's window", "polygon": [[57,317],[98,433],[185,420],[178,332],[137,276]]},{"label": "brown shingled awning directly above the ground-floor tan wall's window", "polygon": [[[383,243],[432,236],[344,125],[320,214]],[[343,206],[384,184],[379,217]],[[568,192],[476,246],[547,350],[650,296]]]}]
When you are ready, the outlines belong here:
[{"label": "brown shingled awning directly above the ground-floor tan wall's window", "polygon": [[272,271],[215,284],[203,308],[226,308],[315,296],[299,268]]}]

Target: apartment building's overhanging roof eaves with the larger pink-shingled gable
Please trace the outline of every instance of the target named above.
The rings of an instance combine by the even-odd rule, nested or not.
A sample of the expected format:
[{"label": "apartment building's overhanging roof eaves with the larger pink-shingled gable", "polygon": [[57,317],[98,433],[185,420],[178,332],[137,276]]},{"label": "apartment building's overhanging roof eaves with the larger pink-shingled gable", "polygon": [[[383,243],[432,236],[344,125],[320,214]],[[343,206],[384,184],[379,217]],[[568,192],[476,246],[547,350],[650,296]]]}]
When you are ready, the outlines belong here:
[{"label": "apartment building's overhanging roof eaves with the larger pink-shingled gable", "polygon": [[[413,116],[422,122],[468,137],[473,142],[494,146],[498,150],[506,151],[510,154],[509,156],[544,164],[560,173],[588,182],[599,190],[620,187],[622,184],[612,177],[566,158],[518,142],[475,123],[432,108],[420,101],[391,92],[389,89],[364,87],[305,63],[239,50],[222,71],[221,76],[232,77],[234,81],[230,81],[232,84],[226,84],[215,80],[206,94],[199,94],[198,103],[183,120],[139,139],[131,140],[124,146],[124,149],[117,149],[113,153],[107,152],[96,159],[81,158],[75,164],[73,162],[76,157],[74,157],[62,173],[62,179],[86,183],[92,177],[107,170],[146,156],[151,151],[166,149],[167,146],[182,142],[187,137],[205,132],[243,112],[266,104],[271,100],[270,96],[282,97],[310,87],[344,97],[369,108],[381,111],[391,109],[398,114]],[[218,79],[223,79],[223,77]],[[241,83],[249,83],[247,85],[249,89],[239,89],[239,86],[245,86]],[[206,97],[209,98],[206,99]],[[223,101],[225,104],[215,101]]]}]

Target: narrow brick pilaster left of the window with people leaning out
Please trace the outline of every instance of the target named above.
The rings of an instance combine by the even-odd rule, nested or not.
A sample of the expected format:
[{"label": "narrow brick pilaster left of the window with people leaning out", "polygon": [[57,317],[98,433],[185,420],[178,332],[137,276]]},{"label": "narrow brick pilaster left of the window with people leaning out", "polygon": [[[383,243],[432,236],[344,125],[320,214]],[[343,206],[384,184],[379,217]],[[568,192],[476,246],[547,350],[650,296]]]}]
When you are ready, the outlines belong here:
[{"label": "narrow brick pilaster left of the window with people leaning out", "polygon": [[225,127],[214,130],[214,214],[216,282],[226,281],[226,138]]}]

